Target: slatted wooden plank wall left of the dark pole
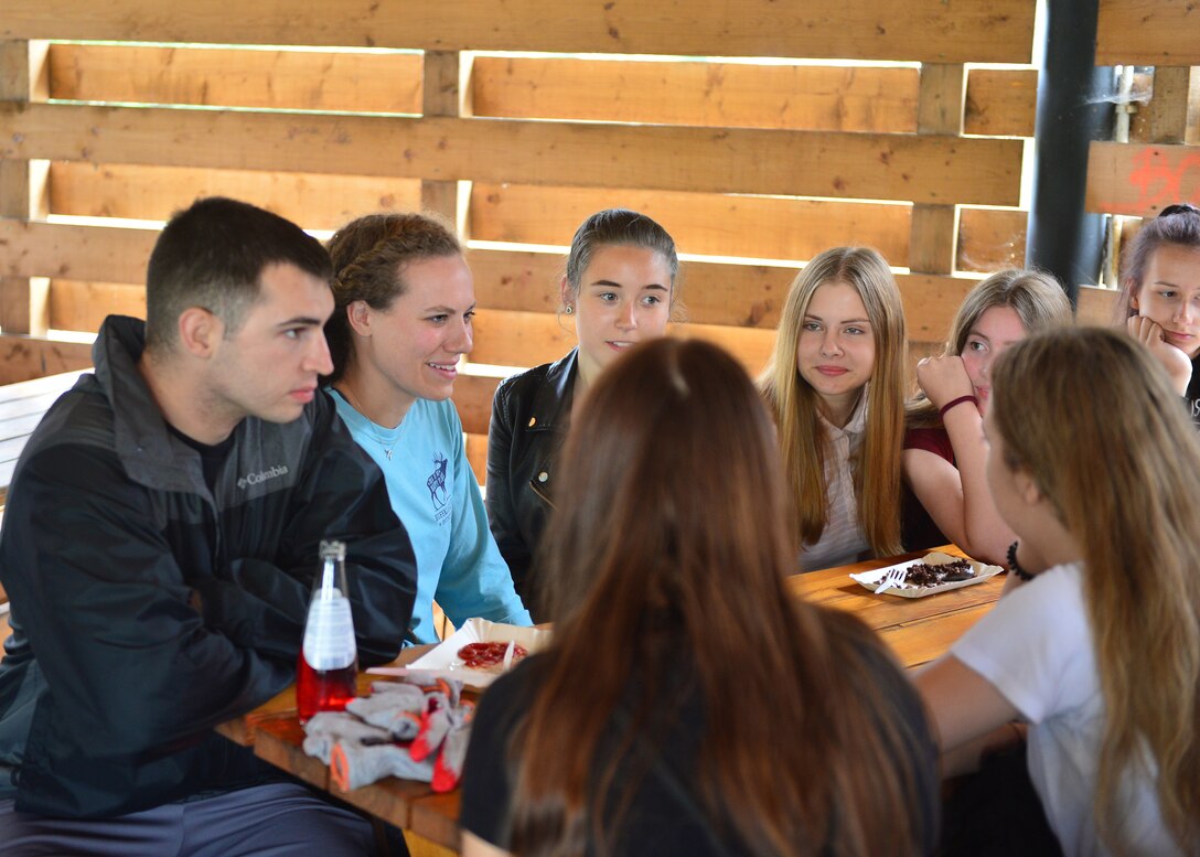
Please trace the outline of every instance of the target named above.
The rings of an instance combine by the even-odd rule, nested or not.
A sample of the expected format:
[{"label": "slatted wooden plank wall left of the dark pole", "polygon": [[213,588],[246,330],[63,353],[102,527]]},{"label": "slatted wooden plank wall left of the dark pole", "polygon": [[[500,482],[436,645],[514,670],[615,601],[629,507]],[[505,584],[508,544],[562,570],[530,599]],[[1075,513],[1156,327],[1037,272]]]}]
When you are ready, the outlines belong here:
[{"label": "slatted wooden plank wall left of the dark pole", "polygon": [[[911,271],[916,353],[973,277],[1024,260],[1033,0],[228,6],[6,0],[0,382],[86,365],[46,331],[139,313],[154,224],[211,193],[320,230],[457,217],[480,242],[472,360],[500,366],[572,344],[544,245],[608,205],[706,257],[685,265],[678,331],[752,371],[796,266],[826,247]],[[472,435],[494,384],[460,382]]]}]

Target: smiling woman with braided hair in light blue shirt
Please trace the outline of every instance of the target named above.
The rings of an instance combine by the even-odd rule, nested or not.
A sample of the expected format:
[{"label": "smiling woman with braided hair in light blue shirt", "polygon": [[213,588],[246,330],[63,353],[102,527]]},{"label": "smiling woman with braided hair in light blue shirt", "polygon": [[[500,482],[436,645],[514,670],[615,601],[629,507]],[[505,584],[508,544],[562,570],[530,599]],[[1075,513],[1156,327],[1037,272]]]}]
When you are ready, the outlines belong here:
[{"label": "smiling woman with braided hair in light blue shirt", "polygon": [[456,625],[473,616],[530,624],[488,532],[450,401],[475,314],[458,239],[425,215],[378,214],[338,229],[329,253],[328,382],[337,413],[383,471],[416,553],[409,642],[437,642],[434,600]]}]

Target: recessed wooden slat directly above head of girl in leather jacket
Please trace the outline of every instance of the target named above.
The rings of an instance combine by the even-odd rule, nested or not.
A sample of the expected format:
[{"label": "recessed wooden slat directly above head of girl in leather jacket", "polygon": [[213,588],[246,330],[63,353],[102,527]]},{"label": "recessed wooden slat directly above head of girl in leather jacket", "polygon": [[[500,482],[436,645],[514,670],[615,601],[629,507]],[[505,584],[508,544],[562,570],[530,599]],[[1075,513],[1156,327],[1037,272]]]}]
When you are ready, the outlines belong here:
[{"label": "recessed wooden slat directly above head of girl in leather jacket", "polygon": [[908,264],[911,206],[883,203],[476,182],[468,234],[485,241],[565,245],[584,218],[606,208],[654,217],[680,252],[803,260],[830,246],[863,244],[894,265]]}]

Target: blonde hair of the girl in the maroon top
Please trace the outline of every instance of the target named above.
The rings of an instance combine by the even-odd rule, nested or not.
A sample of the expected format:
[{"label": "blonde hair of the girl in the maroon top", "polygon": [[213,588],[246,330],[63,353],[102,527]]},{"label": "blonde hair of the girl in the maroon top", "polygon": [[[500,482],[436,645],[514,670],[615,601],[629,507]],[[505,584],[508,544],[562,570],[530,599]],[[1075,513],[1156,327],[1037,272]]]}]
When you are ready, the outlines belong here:
[{"label": "blonde hair of the girl in the maroon top", "polygon": [[[1069,325],[1074,320],[1067,293],[1062,290],[1062,284],[1052,274],[1006,268],[983,280],[962,299],[959,311],[954,313],[943,356],[961,355],[962,349],[967,347],[971,330],[983,318],[983,313],[995,306],[1012,308],[1021,319],[1026,336]],[[913,396],[905,412],[910,427],[925,428],[942,425],[937,408],[924,392]]]}]

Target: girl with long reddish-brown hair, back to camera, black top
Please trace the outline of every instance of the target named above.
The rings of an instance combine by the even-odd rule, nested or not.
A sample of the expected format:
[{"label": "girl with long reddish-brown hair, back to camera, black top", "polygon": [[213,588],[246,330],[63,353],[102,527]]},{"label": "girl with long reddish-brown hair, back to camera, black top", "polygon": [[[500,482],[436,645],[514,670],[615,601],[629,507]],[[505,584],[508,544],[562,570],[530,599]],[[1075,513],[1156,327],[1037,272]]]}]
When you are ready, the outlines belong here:
[{"label": "girl with long reddish-brown hair, back to camera, black top", "polygon": [[919,700],[869,629],[788,593],[791,499],[737,361],[640,346],[562,465],[553,641],[480,701],[463,853],[930,852]]}]

